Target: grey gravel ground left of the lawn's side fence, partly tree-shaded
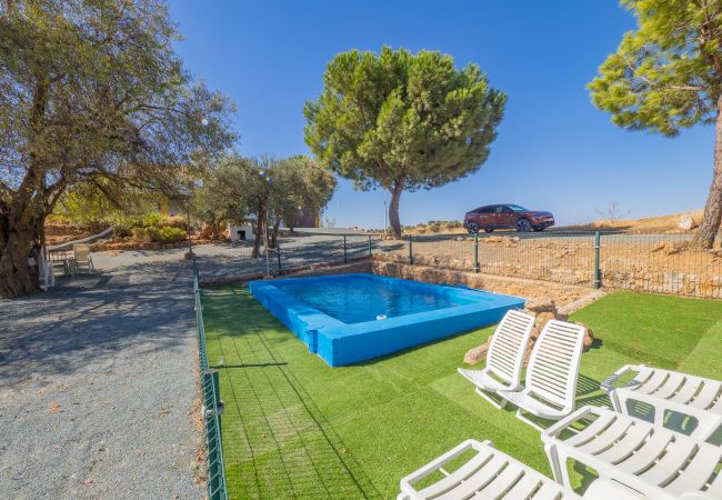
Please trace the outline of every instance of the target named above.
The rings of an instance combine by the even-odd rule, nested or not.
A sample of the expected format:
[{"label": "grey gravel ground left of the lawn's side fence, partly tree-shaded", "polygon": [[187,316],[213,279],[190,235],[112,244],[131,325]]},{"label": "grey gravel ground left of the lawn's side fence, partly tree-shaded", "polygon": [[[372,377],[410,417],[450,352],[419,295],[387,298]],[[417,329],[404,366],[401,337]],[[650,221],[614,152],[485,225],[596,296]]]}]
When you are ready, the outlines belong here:
[{"label": "grey gravel ground left of the lawn's side fence, partly tree-shaded", "polygon": [[92,277],[0,301],[1,498],[203,497],[177,253],[97,254]]}]

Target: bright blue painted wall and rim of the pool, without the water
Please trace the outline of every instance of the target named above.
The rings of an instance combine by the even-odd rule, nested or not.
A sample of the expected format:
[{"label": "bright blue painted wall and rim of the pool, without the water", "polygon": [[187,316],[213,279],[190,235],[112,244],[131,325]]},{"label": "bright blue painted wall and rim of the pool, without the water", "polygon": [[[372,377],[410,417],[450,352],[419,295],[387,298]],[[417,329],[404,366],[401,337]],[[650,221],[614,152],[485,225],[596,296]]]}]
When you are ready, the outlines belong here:
[{"label": "bright blue painted wall and rim of the pool, without the water", "polygon": [[[384,320],[347,324],[275,287],[299,282],[299,280],[304,282],[338,280],[350,276],[428,289],[433,293],[444,293],[452,299],[455,297],[463,302],[468,300],[473,302]],[[365,361],[493,324],[499,322],[508,310],[520,309],[525,302],[525,299],[519,297],[367,273],[251,281],[249,291],[301,339],[311,352],[317,353],[331,367]]]}]

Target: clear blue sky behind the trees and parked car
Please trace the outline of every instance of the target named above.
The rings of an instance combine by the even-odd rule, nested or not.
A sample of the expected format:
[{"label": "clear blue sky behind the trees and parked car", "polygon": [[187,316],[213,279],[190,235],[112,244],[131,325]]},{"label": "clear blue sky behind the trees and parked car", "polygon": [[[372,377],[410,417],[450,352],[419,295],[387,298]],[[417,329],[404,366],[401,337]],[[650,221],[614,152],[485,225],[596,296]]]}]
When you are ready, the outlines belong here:
[{"label": "clear blue sky behind the trees and parked car", "polygon": [[[243,154],[309,153],[303,103],[321,92],[327,63],[383,44],[440,50],[480,66],[509,96],[489,160],[468,178],[404,193],[401,221],[453,220],[480,204],[551,210],[559,223],[599,219],[612,200],[630,217],[704,204],[714,131],[675,139],[616,128],[585,84],[634,18],[615,1],[212,1],[170,0],[188,69],[229,94]],[[327,217],[383,226],[383,191],[341,180]]]}]

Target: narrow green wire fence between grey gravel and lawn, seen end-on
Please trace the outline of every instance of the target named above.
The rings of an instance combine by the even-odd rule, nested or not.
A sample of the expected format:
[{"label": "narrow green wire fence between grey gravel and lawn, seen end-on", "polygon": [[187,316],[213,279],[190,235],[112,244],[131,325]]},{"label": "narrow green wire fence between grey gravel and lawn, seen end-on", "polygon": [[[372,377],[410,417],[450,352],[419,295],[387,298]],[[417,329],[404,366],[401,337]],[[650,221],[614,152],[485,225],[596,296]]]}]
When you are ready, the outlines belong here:
[{"label": "narrow green wire fence between grey gravel and lawn, seen end-on", "polygon": [[223,467],[223,443],[221,440],[221,413],[223,403],[220,398],[218,371],[210,369],[205,347],[205,326],[203,306],[195,259],[193,258],[193,294],[195,296],[195,327],[198,333],[198,360],[200,389],[203,407],[203,432],[205,437],[205,463],[208,468],[208,498],[227,500],[225,468]]}]

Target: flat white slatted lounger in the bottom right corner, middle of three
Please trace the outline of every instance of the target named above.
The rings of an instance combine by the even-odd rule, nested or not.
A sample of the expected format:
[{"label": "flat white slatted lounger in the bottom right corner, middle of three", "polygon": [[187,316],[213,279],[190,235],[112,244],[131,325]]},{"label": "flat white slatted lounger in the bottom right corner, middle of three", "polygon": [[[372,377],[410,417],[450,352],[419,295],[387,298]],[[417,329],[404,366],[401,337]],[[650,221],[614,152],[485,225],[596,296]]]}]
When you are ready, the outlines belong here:
[{"label": "flat white slatted lounger in the bottom right corner, middle of three", "polygon": [[[590,420],[561,439],[570,426]],[[580,408],[542,432],[542,441],[554,478],[566,487],[573,459],[649,498],[722,498],[722,474],[715,474],[722,448],[610,409]]]}]

